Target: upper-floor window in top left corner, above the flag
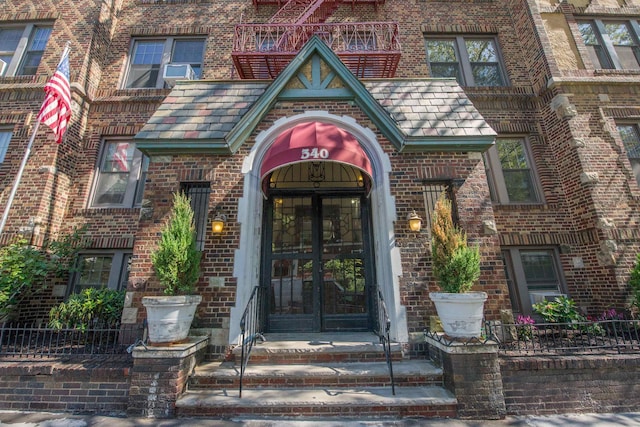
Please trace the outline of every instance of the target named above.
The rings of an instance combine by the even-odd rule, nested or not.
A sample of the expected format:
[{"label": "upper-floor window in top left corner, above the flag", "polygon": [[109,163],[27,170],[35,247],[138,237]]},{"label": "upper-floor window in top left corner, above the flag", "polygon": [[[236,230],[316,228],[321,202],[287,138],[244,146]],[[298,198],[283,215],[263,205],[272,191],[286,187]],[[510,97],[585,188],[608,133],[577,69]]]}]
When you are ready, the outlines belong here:
[{"label": "upper-floor window in top left corner, above the flag", "polygon": [[50,36],[50,26],[0,26],[0,76],[35,75]]}]

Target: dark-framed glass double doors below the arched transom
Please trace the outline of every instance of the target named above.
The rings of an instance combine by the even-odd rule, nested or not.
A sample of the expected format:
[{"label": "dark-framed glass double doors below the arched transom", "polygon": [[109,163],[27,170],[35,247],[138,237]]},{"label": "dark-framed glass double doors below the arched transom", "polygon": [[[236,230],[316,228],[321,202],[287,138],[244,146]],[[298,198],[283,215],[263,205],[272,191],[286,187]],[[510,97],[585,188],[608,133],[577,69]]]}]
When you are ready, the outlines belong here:
[{"label": "dark-framed glass double doors below the arched transom", "polygon": [[371,329],[363,201],[317,194],[268,201],[263,286],[270,332]]}]

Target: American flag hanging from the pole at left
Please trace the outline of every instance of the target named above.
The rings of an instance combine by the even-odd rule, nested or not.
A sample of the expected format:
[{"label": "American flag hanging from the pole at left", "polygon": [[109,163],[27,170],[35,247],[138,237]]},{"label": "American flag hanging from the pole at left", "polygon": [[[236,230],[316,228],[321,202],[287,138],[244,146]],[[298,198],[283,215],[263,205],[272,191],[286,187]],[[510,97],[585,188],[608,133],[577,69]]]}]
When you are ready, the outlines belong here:
[{"label": "American flag hanging from the pole at left", "polygon": [[62,142],[71,117],[71,88],[69,87],[69,53],[65,50],[56,72],[44,85],[47,96],[42,103],[38,120],[49,126],[56,135],[56,142]]}]

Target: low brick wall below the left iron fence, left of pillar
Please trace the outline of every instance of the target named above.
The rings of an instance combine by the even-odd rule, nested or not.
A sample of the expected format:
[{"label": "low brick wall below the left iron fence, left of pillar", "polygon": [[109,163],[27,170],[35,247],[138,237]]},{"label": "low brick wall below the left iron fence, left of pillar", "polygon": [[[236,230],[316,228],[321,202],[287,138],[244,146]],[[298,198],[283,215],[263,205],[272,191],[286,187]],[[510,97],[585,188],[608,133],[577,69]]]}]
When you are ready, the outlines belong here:
[{"label": "low brick wall below the left iron fence, left of pillar", "polygon": [[0,361],[0,409],[123,415],[131,357]]}]

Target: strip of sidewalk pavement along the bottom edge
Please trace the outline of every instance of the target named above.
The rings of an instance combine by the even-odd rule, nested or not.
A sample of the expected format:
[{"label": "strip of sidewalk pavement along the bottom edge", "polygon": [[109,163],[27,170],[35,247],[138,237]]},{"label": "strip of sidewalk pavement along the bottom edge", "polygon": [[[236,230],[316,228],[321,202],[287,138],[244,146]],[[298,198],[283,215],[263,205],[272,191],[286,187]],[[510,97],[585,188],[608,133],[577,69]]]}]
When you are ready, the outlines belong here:
[{"label": "strip of sidewalk pavement along the bottom edge", "polygon": [[44,412],[0,411],[0,426],[10,427],[620,427],[640,426],[640,412],[626,414],[567,414],[511,416],[504,420],[442,418],[405,419],[268,419],[234,418],[121,418]]}]

